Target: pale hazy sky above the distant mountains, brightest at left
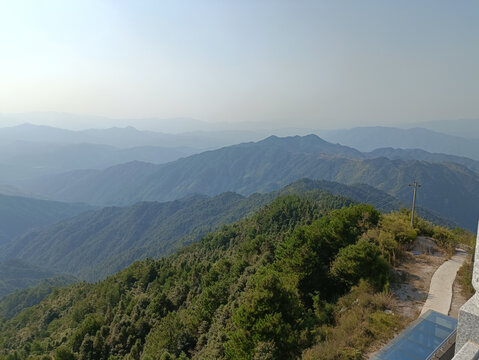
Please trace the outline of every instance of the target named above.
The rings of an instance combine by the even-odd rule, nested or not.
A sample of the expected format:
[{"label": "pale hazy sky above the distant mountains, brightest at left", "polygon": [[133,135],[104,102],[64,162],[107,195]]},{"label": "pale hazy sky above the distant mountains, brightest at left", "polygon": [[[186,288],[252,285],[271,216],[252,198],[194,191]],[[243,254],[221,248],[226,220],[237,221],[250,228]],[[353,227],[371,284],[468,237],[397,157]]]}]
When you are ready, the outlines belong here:
[{"label": "pale hazy sky above the distant mountains, brightest at left", "polygon": [[479,1],[0,0],[0,46],[0,113],[479,117]]}]

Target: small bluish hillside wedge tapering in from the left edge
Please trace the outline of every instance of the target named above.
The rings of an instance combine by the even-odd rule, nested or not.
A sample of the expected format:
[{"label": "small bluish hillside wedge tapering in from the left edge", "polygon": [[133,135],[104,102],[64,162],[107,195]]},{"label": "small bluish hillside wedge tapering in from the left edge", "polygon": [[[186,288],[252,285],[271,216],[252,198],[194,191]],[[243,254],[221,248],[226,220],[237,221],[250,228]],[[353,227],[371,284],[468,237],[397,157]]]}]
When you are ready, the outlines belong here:
[{"label": "small bluish hillside wedge tapering in from the left edge", "polygon": [[36,227],[78,215],[92,206],[0,194],[0,245]]}]

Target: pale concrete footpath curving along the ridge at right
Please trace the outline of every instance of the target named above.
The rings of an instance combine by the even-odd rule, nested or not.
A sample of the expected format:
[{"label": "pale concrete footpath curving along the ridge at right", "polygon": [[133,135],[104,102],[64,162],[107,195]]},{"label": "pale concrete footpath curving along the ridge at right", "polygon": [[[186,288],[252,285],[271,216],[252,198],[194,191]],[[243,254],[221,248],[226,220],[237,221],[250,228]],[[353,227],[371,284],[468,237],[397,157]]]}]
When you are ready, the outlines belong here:
[{"label": "pale concrete footpath curving along the ridge at right", "polygon": [[466,259],[466,255],[465,251],[457,250],[450,260],[439,266],[432,276],[429,294],[422,308],[421,315],[429,309],[444,315],[449,314],[452,301],[452,284],[456,278],[457,271]]}]

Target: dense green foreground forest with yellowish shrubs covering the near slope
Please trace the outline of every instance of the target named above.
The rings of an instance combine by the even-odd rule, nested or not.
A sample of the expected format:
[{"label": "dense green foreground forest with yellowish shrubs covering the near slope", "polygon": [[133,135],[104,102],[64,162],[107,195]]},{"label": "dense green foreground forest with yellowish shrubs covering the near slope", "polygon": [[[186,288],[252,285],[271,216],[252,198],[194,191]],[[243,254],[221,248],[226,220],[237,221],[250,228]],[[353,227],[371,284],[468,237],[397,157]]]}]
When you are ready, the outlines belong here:
[{"label": "dense green foreground forest with yellowish shrubs covering the near slope", "polygon": [[287,195],[167,258],[55,289],[0,325],[5,359],[360,359],[402,319],[390,267],[417,234],[470,241],[407,212]]}]

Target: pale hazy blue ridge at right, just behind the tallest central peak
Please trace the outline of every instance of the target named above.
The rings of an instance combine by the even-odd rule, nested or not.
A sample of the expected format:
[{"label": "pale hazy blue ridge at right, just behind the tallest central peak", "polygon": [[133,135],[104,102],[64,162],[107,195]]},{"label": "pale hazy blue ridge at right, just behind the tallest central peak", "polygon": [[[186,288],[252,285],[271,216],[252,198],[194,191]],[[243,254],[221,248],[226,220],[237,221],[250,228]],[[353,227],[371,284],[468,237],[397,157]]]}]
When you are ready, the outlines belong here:
[{"label": "pale hazy blue ridge at right, just behind the tallest central peak", "polygon": [[384,147],[422,149],[479,160],[478,135],[474,139],[447,135],[424,128],[398,129],[381,126],[320,131],[319,134],[327,141],[352,146],[361,151],[373,151]]}]

